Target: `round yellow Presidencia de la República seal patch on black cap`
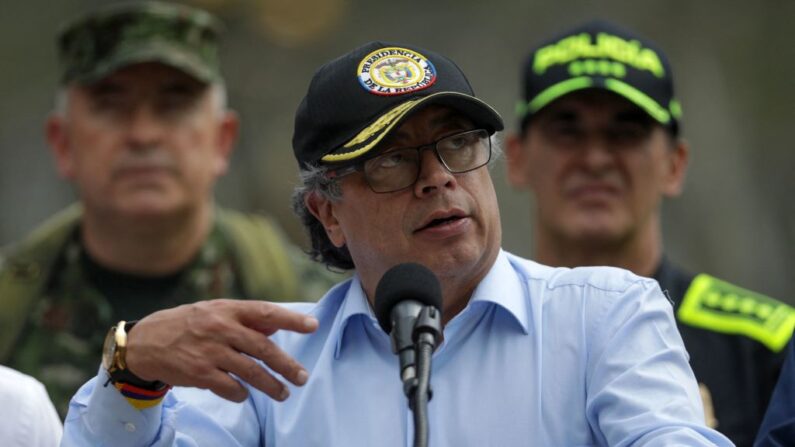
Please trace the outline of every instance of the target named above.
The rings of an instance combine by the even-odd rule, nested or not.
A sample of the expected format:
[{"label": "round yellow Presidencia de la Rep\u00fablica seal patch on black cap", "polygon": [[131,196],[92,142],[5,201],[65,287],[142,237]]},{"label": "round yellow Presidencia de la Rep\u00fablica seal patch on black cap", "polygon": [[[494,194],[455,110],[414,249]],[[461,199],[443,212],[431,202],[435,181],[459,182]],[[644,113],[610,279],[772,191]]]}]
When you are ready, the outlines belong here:
[{"label": "round yellow Presidencia de la Rep\u00fablica seal patch on black cap", "polygon": [[380,48],[362,59],[359,83],[375,95],[402,95],[436,82],[436,68],[422,54],[400,47]]}]

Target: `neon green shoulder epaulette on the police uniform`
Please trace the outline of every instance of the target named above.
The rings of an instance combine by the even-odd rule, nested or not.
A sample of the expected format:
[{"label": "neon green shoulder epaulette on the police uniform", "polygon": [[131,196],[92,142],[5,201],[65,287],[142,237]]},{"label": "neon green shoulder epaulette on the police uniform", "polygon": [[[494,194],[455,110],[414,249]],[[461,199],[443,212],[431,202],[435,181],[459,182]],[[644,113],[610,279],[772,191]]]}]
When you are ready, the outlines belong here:
[{"label": "neon green shoulder epaulette on the police uniform", "polygon": [[696,276],[677,311],[690,326],[752,338],[781,351],[795,329],[795,309],[706,274]]}]

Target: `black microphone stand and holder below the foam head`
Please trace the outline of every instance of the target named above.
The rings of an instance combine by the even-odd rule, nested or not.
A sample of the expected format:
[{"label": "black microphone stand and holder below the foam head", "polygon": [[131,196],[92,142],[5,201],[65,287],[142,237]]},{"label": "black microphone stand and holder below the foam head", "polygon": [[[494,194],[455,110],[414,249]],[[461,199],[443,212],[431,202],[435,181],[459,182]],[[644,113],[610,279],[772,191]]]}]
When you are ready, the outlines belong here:
[{"label": "black microphone stand and holder below the foam head", "polygon": [[422,309],[414,325],[417,376],[404,382],[403,390],[414,413],[414,447],[428,446],[428,402],[431,390],[431,355],[442,340],[441,312],[431,306]]}]

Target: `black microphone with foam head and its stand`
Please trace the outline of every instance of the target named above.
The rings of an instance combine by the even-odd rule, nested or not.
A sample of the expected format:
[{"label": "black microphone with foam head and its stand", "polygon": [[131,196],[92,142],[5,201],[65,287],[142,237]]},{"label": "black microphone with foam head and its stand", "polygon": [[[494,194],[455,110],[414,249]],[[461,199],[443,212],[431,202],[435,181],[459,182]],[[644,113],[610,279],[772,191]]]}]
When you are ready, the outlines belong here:
[{"label": "black microphone with foam head and its stand", "polygon": [[400,360],[403,392],[414,411],[415,446],[428,444],[427,405],[431,399],[431,354],[442,339],[442,288],[420,264],[398,264],[375,289],[378,324],[392,339]]}]

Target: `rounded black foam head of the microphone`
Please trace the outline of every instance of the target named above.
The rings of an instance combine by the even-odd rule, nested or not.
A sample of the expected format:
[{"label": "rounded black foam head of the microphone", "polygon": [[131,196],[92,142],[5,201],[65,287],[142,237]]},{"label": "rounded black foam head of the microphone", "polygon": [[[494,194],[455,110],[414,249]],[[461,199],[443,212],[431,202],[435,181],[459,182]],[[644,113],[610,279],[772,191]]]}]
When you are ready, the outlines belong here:
[{"label": "rounded black foam head of the microphone", "polygon": [[392,331],[390,314],[397,303],[414,300],[433,306],[441,312],[442,286],[427,267],[407,262],[398,264],[384,273],[375,288],[375,316],[387,334]]}]

